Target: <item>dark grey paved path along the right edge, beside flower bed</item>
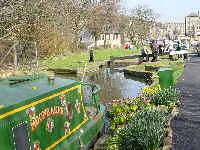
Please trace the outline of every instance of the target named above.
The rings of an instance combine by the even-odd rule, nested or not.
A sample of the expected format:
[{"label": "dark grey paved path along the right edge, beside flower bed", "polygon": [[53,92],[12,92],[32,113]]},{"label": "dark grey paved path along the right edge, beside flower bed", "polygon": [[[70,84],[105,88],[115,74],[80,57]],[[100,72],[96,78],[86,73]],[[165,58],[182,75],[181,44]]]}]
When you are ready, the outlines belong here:
[{"label": "dark grey paved path along the right edge, beside flower bed", "polygon": [[192,57],[185,65],[176,88],[182,106],[171,122],[173,150],[200,150],[200,57]]}]

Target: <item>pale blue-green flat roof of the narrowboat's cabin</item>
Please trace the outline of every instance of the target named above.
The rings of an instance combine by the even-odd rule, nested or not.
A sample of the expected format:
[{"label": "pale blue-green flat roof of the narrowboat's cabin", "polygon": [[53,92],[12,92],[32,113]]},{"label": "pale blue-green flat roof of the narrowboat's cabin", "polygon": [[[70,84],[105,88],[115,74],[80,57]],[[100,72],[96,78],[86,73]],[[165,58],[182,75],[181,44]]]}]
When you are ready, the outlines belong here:
[{"label": "pale blue-green flat roof of the narrowboat's cabin", "polygon": [[46,76],[33,80],[30,80],[28,77],[1,79],[0,106],[5,108],[18,104],[22,101],[46,94],[75,82],[76,81],[74,80],[57,77],[55,77],[53,82],[50,82]]}]

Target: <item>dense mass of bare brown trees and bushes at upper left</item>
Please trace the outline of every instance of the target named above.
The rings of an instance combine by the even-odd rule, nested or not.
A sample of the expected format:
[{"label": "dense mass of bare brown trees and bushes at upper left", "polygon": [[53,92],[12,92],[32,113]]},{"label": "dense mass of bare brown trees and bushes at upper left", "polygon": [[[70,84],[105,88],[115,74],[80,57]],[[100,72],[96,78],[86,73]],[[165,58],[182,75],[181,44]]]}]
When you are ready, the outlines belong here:
[{"label": "dense mass of bare brown trees and bushes at upper left", "polygon": [[44,55],[69,47],[68,43],[78,48],[84,29],[97,39],[117,20],[114,2],[1,0],[0,8],[0,39],[36,41]]}]

